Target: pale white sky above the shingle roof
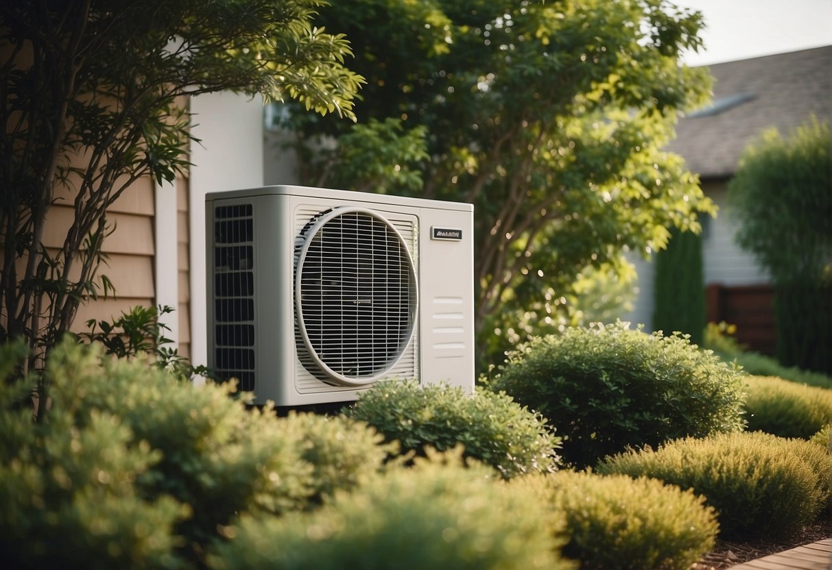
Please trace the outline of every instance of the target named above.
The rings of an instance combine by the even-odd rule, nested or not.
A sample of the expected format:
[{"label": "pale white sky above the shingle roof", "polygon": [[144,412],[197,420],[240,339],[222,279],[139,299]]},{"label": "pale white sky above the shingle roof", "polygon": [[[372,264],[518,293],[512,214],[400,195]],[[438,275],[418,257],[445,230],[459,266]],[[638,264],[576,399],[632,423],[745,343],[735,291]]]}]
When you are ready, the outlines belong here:
[{"label": "pale white sky above the shingle roof", "polygon": [[705,50],[685,57],[691,66],[832,45],[832,0],[671,2],[699,10],[705,20]]}]

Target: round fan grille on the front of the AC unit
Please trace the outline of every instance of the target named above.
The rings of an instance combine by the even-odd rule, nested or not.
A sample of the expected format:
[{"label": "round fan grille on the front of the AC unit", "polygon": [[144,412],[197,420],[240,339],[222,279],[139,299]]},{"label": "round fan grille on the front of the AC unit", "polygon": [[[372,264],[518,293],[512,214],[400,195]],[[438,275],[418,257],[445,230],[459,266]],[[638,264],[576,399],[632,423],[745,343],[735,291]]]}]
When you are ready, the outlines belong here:
[{"label": "round fan grille on the front of the AC unit", "polygon": [[408,248],[387,220],[364,209],[321,214],[302,237],[295,273],[301,361],[325,381],[373,381],[394,366],[414,330]]}]

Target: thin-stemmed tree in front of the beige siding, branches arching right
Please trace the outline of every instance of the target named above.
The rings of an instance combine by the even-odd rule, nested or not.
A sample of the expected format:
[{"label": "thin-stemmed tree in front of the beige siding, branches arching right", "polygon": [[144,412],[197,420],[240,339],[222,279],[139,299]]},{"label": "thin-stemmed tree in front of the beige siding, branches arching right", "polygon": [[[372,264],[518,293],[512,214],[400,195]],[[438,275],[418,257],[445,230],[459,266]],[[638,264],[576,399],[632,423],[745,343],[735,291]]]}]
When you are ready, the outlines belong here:
[{"label": "thin-stemmed tree in front of the beige siding, branches arching right", "polygon": [[[362,81],[342,35],[313,26],[320,0],[3,2],[0,7],[0,342],[40,359],[79,303],[111,288],[97,273],[106,209],[136,179],[187,170],[186,96],[292,98],[354,118]],[[42,243],[59,200],[74,219]],[[36,361],[30,361],[33,366]]]}]

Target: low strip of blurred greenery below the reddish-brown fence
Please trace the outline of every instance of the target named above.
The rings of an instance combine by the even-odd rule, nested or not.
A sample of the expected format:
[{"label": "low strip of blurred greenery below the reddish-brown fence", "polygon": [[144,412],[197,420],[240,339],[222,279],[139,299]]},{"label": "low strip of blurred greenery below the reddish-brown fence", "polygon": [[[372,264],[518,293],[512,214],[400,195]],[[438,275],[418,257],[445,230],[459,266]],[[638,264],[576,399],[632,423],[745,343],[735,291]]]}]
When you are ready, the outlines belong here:
[{"label": "low strip of blurred greenery below the reddish-brown fence", "polygon": [[832,378],[820,372],[803,370],[797,366],[783,366],[775,358],[755,351],[745,351],[736,339],[731,337],[733,325],[726,322],[709,322],[705,329],[703,346],[716,352],[726,362],[735,362],[743,371],[752,376],[777,376],[783,380],[800,382],[809,386],[832,389]]}]

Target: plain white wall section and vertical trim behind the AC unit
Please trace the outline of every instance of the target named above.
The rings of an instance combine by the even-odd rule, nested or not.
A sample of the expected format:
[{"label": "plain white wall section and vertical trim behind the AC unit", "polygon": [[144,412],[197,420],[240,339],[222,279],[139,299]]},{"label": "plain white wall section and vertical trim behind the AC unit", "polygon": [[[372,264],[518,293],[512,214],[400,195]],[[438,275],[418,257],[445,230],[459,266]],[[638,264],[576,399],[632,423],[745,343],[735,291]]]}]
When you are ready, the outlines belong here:
[{"label": "plain white wall section and vertical trim behind the AC unit", "polygon": [[263,101],[234,93],[191,99],[191,362],[207,361],[205,195],[263,184]]}]

